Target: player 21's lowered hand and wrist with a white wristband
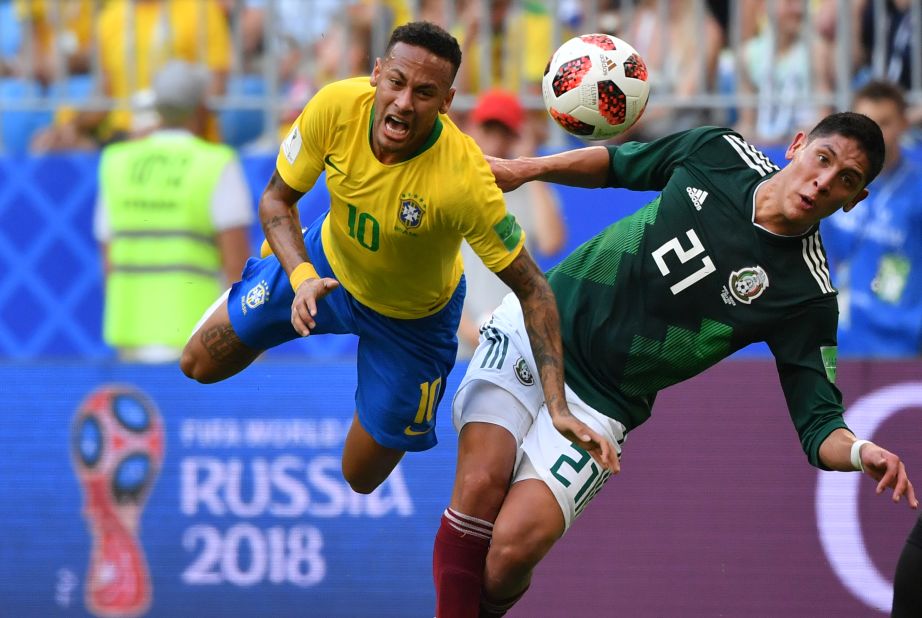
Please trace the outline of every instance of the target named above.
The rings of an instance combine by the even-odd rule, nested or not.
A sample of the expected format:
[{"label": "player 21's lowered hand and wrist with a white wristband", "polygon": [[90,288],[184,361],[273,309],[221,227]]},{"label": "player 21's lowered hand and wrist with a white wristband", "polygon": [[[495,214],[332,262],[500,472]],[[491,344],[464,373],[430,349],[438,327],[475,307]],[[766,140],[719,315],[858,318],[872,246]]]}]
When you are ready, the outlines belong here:
[{"label": "player 21's lowered hand and wrist with a white wristband", "polygon": [[919,508],[906,466],[897,455],[873,442],[856,440],[851,432],[836,429],[820,445],[820,460],[832,470],[861,470],[877,481],[877,493],[889,487],[893,490],[894,502],[906,496],[910,508]]}]

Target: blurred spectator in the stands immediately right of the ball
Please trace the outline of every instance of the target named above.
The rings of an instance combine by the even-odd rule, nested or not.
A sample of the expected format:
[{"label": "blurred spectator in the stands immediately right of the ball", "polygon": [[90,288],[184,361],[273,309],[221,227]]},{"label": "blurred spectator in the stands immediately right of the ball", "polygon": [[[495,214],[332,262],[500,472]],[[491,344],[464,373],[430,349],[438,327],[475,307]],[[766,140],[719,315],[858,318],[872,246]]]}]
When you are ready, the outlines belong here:
[{"label": "blurred spectator in the stands immediately right of the ball", "polygon": [[[649,141],[711,124],[709,110],[686,107],[682,99],[714,90],[722,45],[720,25],[700,2],[642,0],[627,25],[625,40],[649,69],[650,105],[631,132]],[[660,97],[673,105],[657,105]]]}]

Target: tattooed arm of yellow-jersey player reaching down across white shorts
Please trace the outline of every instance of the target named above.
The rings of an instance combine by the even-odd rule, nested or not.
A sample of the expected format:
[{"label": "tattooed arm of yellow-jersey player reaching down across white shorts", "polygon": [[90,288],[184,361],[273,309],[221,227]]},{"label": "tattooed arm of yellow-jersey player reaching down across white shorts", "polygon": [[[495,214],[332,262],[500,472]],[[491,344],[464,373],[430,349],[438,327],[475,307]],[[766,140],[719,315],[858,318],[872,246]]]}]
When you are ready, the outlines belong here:
[{"label": "tattooed arm of yellow-jersey player reaching down across white shorts", "polygon": [[537,363],[544,398],[554,427],[568,440],[586,449],[613,473],[620,469],[615,446],[570,413],[563,387],[563,344],[554,292],[528,252],[522,252],[497,273],[522,304],[525,329]]}]

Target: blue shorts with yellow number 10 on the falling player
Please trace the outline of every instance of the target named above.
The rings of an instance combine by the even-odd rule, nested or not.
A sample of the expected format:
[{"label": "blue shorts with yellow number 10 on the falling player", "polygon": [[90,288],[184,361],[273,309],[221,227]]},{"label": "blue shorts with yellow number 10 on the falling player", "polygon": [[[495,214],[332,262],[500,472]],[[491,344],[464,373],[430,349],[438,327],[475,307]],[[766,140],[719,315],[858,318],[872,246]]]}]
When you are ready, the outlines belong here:
[{"label": "blue shorts with yellow number 10 on the falling player", "polygon": [[[333,277],[320,240],[321,216],[304,232],[311,263]],[[389,318],[362,305],[340,285],[317,302],[312,335],[358,335],[356,410],[362,427],[385,447],[424,451],[436,445],[435,416],[455,364],[464,277],[448,304],[416,320]],[[265,350],[299,337],[291,325],[294,292],[278,259],[250,258],[227,299],[240,340]]]}]

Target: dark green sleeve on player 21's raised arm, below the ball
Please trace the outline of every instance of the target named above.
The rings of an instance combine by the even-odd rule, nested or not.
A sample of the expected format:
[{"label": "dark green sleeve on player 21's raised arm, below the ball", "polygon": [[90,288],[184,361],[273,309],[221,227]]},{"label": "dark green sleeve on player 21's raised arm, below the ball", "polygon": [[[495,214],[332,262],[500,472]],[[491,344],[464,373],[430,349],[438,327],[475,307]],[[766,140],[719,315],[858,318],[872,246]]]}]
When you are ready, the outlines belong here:
[{"label": "dark green sleeve on player 21's raised arm, below the ball", "polygon": [[675,168],[710,140],[729,133],[719,127],[698,127],[652,142],[609,146],[606,186],[634,191],[662,191]]}]

